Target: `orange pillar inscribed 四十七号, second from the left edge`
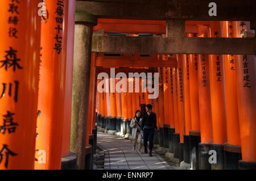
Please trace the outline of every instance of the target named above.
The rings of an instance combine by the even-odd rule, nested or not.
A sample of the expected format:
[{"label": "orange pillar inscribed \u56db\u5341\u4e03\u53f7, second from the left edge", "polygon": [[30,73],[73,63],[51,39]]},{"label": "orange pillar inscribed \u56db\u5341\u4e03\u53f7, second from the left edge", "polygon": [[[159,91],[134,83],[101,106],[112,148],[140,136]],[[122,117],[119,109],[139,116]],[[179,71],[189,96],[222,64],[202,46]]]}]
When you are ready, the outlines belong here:
[{"label": "orange pillar inscribed \u56db\u5341\u4e03\u53f7, second from the left edge", "polygon": [[49,17],[42,22],[36,150],[46,151],[47,157],[46,163],[40,163],[40,159],[35,162],[35,169],[60,169],[67,61],[67,29],[64,25],[68,20],[68,1],[45,3]]}]

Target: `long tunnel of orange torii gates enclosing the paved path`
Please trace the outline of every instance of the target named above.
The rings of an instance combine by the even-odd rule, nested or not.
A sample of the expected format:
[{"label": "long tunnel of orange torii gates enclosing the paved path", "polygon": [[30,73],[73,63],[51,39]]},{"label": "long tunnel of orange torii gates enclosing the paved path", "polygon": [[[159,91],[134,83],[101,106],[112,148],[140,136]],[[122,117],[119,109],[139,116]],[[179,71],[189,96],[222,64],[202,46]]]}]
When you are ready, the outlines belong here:
[{"label": "long tunnel of orange torii gates enclosing the paved path", "polygon": [[[180,162],[256,168],[256,1],[40,2],[0,6],[0,169],[92,169],[97,129],[129,137],[148,103]],[[113,92],[110,68],[159,73],[159,96]]]}]

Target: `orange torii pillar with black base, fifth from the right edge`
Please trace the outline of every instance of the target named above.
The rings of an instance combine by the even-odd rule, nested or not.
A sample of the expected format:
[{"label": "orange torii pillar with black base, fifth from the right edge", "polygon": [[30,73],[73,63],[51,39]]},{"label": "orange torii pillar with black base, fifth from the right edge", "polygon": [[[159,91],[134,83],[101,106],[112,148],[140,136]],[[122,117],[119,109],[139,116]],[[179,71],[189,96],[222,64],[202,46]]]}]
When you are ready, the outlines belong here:
[{"label": "orange torii pillar with black base, fifth from the right edge", "polygon": [[[195,36],[195,35],[190,35]],[[189,54],[189,94],[191,106],[191,130],[189,131],[189,145],[191,155],[191,169],[199,169],[200,114],[198,88],[198,54]]]}]

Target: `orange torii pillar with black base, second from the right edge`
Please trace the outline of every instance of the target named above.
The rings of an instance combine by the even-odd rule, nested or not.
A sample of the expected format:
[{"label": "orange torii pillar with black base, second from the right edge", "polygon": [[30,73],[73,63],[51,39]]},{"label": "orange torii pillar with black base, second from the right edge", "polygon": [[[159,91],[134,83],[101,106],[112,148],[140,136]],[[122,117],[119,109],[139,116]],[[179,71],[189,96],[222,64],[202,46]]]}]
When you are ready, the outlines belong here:
[{"label": "orange torii pillar with black base, second from the right edge", "polygon": [[[235,22],[222,22],[224,37],[236,37],[233,32]],[[238,161],[242,159],[240,127],[237,102],[237,60],[234,54],[224,55],[226,128],[228,142],[224,144],[225,169],[238,169]]]}]

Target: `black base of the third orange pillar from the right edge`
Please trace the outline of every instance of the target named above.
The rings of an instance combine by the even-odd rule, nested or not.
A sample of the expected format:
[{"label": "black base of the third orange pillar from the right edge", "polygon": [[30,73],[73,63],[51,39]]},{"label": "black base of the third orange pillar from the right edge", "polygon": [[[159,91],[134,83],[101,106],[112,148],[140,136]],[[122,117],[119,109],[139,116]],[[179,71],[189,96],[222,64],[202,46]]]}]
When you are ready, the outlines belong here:
[{"label": "black base of the third orange pillar from the right edge", "polygon": [[212,170],[224,170],[224,145],[211,144],[210,149],[215,150],[217,156],[217,163],[212,163]]}]

